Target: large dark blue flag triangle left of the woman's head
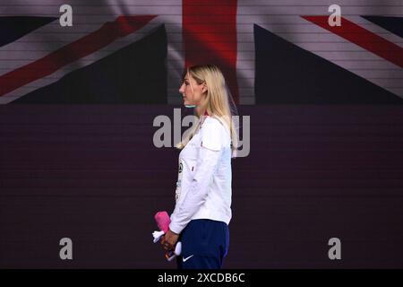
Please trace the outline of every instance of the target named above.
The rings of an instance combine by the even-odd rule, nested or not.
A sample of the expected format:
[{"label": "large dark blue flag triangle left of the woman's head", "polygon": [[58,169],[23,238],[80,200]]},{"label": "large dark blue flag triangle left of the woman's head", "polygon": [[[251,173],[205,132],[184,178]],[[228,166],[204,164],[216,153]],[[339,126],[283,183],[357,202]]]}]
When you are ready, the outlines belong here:
[{"label": "large dark blue flag triangle left of the woman's head", "polygon": [[12,103],[167,103],[164,25],[99,61]]}]

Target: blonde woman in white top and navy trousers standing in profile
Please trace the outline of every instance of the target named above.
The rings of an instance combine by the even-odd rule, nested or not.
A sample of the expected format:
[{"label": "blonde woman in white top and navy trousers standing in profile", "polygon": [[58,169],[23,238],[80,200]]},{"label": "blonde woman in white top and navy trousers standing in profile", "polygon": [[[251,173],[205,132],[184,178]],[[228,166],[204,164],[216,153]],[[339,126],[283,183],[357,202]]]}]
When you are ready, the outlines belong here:
[{"label": "blonde woman in white top and navy trousers standing in profile", "polygon": [[[231,220],[231,155],[237,146],[235,107],[216,65],[189,67],[179,89],[198,120],[176,146],[179,154],[176,207],[161,244],[182,242],[178,268],[218,269],[227,256]],[[232,105],[232,106],[231,106]],[[231,110],[232,109],[232,110]]]}]

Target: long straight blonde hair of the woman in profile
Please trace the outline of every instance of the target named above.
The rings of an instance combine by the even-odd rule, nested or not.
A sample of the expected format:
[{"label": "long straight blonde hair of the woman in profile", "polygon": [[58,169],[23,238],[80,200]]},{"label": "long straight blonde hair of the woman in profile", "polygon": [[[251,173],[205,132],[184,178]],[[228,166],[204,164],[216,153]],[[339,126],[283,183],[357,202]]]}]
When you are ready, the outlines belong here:
[{"label": "long straight blonde hair of the woman in profile", "polygon": [[[230,99],[229,95],[227,94],[226,82],[221,70],[216,65],[193,65],[187,68],[186,71],[184,71],[182,77],[183,79],[186,74],[191,74],[193,79],[198,84],[206,83],[206,100],[204,101],[204,104],[199,108],[201,111],[201,115],[203,115],[204,112],[207,111],[210,117],[215,117],[219,119],[221,123],[227,125],[231,135],[231,148],[233,151],[233,155],[235,155],[236,149],[238,147],[238,135],[236,125],[231,114],[229,100],[232,99]],[[182,140],[182,142],[176,144],[176,148],[183,149],[184,146],[192,139],[193,135],[196,134],[199,126],[204,120],[204,116],[197,117],[199,118],[193,124],[191,131],[184,135],[184,139]]]}]

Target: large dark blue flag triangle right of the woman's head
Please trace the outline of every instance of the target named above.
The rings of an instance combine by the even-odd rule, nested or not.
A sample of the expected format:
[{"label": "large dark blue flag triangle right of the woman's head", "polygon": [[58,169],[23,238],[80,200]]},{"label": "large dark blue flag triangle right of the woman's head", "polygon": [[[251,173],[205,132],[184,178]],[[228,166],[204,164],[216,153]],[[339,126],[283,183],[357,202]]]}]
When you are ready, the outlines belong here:
[{"label": "large dark blue flag triangle right of the woman's head", "polygon": [[403,99],[254,25],[258,104],[403,104]]}]

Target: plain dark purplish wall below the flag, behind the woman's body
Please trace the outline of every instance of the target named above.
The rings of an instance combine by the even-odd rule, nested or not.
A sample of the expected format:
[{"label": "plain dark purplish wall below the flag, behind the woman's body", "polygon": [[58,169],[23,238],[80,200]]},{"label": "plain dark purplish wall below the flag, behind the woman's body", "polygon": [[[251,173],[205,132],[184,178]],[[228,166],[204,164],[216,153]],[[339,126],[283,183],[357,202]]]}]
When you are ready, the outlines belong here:
[{"label": "plain dark purplish wall below the flag, behind the woman's body", "polygon": [[[170,268],[151,242],[172,212],[173,106],[0,106],[0,267]],[[226,268],[403,267],[399,106],[242,106]],[[184,114],[183,114],[184,116]],[[73,260],[59,240],[73,239]],[[341,260],[328,240],[341,239]]]}]

